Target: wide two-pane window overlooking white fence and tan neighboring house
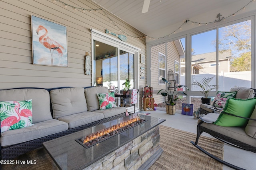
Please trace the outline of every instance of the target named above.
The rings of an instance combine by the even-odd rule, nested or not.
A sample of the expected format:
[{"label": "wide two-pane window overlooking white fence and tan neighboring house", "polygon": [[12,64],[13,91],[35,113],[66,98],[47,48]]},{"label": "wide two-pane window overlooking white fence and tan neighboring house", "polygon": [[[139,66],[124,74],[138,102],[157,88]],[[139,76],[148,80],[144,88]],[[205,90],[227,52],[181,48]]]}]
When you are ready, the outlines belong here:
[{"label": "wide two-pane window overlooking white fence and tan neighboring house", "polygon": [[[234,86],[250,88],[251,64],[251,20],[192,35],[191,65],[199,68],[199,74],[192,74],[192,83],[214,76],[210,83],[217,84],[219,91]],[[192,86],[192,91],[200,90]]]}]

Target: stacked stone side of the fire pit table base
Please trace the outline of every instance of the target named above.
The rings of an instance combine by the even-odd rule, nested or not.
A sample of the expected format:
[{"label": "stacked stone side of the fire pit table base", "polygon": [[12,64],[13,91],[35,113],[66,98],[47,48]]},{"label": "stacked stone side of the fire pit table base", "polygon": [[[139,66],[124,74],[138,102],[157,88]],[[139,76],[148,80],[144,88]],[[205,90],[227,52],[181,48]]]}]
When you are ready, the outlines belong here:
[{"label": "stacked stone side of the fire pit table base", "polygon": [[148,168],[158,158],[155,155],[162,154],[159,140],[159,126],[156,126],[84,170],[137,170],[145,166]]}]

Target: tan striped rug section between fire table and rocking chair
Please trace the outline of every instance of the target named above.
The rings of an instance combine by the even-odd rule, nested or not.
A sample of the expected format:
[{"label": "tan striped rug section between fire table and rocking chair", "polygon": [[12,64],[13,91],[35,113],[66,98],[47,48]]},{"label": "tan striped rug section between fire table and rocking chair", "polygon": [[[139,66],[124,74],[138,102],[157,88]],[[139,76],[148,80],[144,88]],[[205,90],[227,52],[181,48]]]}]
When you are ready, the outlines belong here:
[{"label": "tan striped rug section between fire table and rocking chair", "polygon": [[[162,155],[149,170],[222,170],[222,164],[198,150],[190,141],[196,134],[160,125]],[[223,159],[224,145],[217,139],[201,136],[198,145]]]}]

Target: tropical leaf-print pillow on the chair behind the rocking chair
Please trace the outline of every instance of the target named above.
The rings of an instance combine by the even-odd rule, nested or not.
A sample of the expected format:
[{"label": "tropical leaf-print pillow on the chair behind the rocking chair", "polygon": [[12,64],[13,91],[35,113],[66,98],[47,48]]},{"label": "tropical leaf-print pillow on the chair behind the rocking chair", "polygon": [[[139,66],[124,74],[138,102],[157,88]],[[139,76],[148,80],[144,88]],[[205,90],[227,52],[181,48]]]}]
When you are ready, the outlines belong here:
[{"label": "tropical leaf-print pillow on the chair behind the rocking chair", "polygon": [[218,101],[214,104],[214,106],[224,108],[226,105],[226,101],[229,98],[235,98],[236,93],[237,92],[220,92],[220,91],[218,91],[215,96],[215,100],[214,100],[214,101],[216,101],[216,100],[218,100]]}]

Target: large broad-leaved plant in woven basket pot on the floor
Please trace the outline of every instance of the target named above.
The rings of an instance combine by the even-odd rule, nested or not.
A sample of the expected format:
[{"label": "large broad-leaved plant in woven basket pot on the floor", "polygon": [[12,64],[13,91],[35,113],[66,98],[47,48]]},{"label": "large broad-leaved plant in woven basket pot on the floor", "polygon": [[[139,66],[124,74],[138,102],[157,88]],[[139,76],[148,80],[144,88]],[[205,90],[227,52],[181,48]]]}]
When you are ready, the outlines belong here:
[{"label": "large broad-leaved plant in woven basket pot on the floor", "polygon": [[[170,82],[168,82],[165,78],[162,78],[162,80],[168,84],[170,84]],[[173,91],[167,91],[165,89],[161,89],[158,91],[157,94],[159,94],[162,90],[164,90],[165,92],[161,92],[161,95],[168,98],[168,102],[166,102],[166,113],[170,114],[170,115],[174,115],[176,112],[176,100],[178,100],[178,94],[183,94],[185,96],[187,96],[186,93],[182,92],[182,91],[177,91],[177,88],[181,88],[181,87],[185,87],[186,89],[188,89],[186,86],[184,85],[179,85],[176,86],[176,84],[174,84],[174,90]],[[189,90],[189,89],[188,89]]]}]

